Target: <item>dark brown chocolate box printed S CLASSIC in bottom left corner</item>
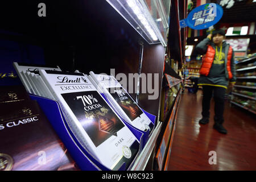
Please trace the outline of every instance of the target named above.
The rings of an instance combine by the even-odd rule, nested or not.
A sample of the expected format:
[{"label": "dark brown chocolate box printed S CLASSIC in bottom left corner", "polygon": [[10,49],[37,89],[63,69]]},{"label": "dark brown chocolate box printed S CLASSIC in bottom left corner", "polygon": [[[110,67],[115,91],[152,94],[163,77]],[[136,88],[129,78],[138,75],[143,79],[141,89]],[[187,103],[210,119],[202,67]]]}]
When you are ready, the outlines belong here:
[{"label": "dark brown chocolate box printed S CLASSIC in bottom left corner", "polygon": [[78,169],[36,101],[0,108],[0,171]]}]

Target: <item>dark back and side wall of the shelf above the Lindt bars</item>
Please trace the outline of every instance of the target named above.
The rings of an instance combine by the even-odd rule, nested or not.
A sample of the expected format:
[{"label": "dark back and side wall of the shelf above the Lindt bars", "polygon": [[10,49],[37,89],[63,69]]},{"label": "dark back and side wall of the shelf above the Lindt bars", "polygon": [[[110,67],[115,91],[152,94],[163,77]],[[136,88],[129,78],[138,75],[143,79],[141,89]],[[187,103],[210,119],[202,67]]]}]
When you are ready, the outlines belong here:
[{"label": "dark back and side wall of the shelf above the Lindt bars", "polygon": [[[38,16],[41,2],[46,4],[46,17]],[[64,71],[79,69],[87,74],[109,74],[111,68],[116,74],[138,73],[142,38],[106,1],[5,1],[0,18],[0,42],[42,48],[43,55],[31,52],[34,60],[42,62],[43,57],[46,64],[57,64]],[[159,73],[161,83],[164,47],[146,42],[144,47],[142,72]],[[160,94],[160,84],[158,89]],[[139,104],[158,114],[159,98],[151,105],[141,96]]]}]

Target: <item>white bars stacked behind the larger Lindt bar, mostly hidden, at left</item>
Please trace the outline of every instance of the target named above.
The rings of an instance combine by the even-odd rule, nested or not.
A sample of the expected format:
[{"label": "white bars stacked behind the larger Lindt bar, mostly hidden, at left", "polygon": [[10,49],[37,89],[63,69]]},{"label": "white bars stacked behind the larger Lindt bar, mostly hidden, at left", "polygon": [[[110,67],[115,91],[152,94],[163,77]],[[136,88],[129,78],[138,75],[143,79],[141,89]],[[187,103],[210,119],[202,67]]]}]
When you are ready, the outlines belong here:
[{"label": "white bars stacked behind the larger Lindt bar, mostly hidden, at left", "polygon": [[28,74],[26,73],[31,73],[31,72],[35,73],[35,72],[38,72],[39,69],[61,71],[60,67],[58,66],[48,67],[47,65],[36,65],[36,64],[26,64],[26,63],[17,63],[17,62],[14,62],[13,66],[16,72],[18,73],[20,81],[22,81],[22,84],[26,88],[27,92],[38,95],[38,96],[42,96],[42,93],[39,93],[34,82],[31,80],[31,77],[28,76]]}]

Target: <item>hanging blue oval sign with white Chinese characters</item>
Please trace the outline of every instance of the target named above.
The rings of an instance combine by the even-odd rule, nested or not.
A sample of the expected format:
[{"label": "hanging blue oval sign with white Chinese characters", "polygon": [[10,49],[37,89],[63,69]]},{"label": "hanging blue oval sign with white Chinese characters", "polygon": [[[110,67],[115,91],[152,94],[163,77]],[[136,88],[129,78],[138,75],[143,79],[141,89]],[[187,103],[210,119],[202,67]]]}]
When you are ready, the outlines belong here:
[{"label": "hanging blue oval sign with white Chinese characters", "polygon": [[207,3],[193,9],[188,17],[180,20],[180,27],[189,27],[195,30],[209,28],[216,24],[223,15],[223,9],[215,3]]}]

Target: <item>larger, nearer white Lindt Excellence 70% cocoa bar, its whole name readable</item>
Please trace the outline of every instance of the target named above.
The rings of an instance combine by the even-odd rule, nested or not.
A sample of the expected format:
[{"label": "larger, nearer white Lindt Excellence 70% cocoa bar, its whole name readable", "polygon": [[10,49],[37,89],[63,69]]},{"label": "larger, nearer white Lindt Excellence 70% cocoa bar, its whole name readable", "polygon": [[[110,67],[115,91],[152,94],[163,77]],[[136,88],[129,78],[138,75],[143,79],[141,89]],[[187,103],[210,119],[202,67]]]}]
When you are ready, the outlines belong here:
[{"label": "larger, nearer white Lindt Excellence 70% cocoa bar, its whole name readable", "polygon": [[39,73],[81,146],[109,169],[119,169],[123,163],[129,167],[138,153],[139,142],[88,77],[42,69]]}]

